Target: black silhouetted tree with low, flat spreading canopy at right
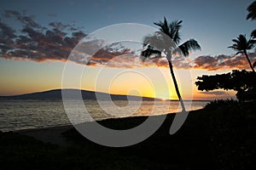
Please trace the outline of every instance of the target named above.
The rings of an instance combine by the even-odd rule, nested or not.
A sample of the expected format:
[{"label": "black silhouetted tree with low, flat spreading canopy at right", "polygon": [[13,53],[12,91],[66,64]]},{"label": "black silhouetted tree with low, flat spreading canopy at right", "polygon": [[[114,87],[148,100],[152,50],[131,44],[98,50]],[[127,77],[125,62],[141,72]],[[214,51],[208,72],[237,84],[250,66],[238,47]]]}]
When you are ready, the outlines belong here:
[{"label": "black silhouetted tree with low, flat spreading canopy at right", "polygon": [[256,99],[256,73],[234,70],[221,75],[197,77],[195,85],[201,91],[215,89],[235,90],[239,101]]}]

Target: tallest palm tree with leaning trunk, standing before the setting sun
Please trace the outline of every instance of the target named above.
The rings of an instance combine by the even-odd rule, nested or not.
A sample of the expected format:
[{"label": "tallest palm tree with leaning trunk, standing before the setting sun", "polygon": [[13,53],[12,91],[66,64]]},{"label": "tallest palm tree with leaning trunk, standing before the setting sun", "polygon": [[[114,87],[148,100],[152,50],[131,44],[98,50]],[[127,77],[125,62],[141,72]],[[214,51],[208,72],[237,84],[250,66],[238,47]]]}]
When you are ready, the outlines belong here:
[{"label": "tallest palm tree with leaning trunk, standing before the setting sun", "polygon": [[158,23],[154,23],[154,25],[160,27],[160,31],[156,31],[153,36],[144,38],[143,47],[146,47],[146,49],[143,50],[142,55],[146,58],[162,57],[163,55],[166,56],[177,97],[180,101],[180,104],[182,105],[183,112],[185,112],[186,109],[183,104],[182,96],[179,93],[177,80],[173,71],[172,55],[182,54],[187,57],[189,56],[190,50],[201,49],[201,47],[194,39],[189,39],[187,42],[183,42],[181,45],[177,45],[181,40],[179,31],[182,27],[182,22],[182,20],[177,20],[168,24],[165,17],[164,22],[160,21]]}]

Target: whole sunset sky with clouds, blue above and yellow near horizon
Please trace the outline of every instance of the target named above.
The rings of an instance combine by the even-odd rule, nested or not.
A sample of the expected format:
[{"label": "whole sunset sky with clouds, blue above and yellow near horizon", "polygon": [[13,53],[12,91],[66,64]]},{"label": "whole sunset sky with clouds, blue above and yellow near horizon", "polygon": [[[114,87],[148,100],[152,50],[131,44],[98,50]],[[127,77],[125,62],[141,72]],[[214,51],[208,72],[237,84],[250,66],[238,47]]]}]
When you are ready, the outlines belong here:
[{"label": "whole sunset sky with clouds, blue above and yellow near horizon", "polygon": [[[150,65],[137,65],[138,61],[129,57],[129,51],[123,49],[117,53],[123,57],[115,58],[117,60],[109,58],[111,54],[104,50],[97,53],[98,59],[92,60],[90,65],[84,65],[81,60],[67,60],[85,35],[121,23],[136,23],[157,29],[154,22],[166,16],[170,21],[183,20],[182,42],[195,38],[201,45],[201,51],[191,53],[189,59],[177,57],[173,60],[183,99],[234,98],[232,91],[200,92],[195,87],[195,81],[196,77],[204,74],[249,69],[244,56],[234,57],[236,52],[227,47],[239,34],[249,37],[255,29],[255,21],[246,20],[250,3],[253,1],[2,0],[0,95],[26,94],[62,86],[111,94],[139,94],[162,99],[171,96],[171,99],[177,99],[166,62],[153,60],[155,63],[150,61]],[[137,30],[133,32],[137,34]],[[119,38],[121,36],[117,35],[124,32],[114,33],[116,35],[108,37]],[[255,54],[254,50],[250,51],[252,60],[256,59]],[[133,60],[130,62],[127,59]],[[102,62],[107,65],[101,65]],[[124,65],[127,62],[129,67]],[[68,65],[73,76],[63,86],[63,73],[68,71]],[[76,69],[81,72],[75,72]],[[80,77],[78,83],[73,80],[76,77]]]}]

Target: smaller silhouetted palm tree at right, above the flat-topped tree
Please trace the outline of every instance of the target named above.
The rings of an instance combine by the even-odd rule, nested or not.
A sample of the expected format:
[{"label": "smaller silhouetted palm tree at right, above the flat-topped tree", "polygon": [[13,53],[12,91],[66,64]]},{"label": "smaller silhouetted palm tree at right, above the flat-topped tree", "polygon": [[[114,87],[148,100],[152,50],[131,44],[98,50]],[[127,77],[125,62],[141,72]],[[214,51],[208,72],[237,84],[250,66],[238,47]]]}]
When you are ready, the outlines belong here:
[{"label": "smaller silhouetted palm tree at right, above the flat-topped tree", "polygon": [[234,42],[234,44],[228,48],[233,48],[234,50],[237,51],[236,54],[245,54],[245,56],[247,57],[247,61],[251,67],[251,69],[254,71],[253,69],[253,65],[248,57],[248,54],[247,54],[247,50],[250,50],[254,47],[255,43],[256,43],[256,40],[250,38],[248,41],[247,41],[247,37],[245,35],[239,35],[237,37],[237,39],[233,39],[232,42]]}]

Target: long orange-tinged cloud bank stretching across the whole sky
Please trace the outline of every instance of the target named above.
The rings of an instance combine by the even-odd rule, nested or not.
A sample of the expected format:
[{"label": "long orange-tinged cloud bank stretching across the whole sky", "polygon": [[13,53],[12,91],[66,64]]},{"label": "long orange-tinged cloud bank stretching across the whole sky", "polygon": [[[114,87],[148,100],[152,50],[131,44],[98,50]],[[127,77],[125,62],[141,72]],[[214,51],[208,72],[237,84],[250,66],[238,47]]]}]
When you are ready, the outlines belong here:
[{"label": "long orange-tinged cloud bank stretching across the whole sky", "polygon": [[[45,60],[66,61],[73,48],[85,37],[82,28],[61,22],[50,22],[48,26],[38,24],[33,16],[20,14],[17,11],[6,10],[2,14],[3,19],[15,20],[20,23],[20,30],[12,28],[0,19],[0,57],[15,60],[33,60],[42,62]],[[79,64],[90,66],[108,67],[168,67],[167,60],[162,58],[146,59],[144,62],[140,52],[143,45],[137,49],[131,49],[127,43],[110,44],[103,46],[104,42],[92,40],[83,42],[80,48],[73,51],[75,57],[69,58]],[[91,57],[90,51],[101,48]],[[84,52],[84,50],[86,52]],[[256,60],[256,50],[248,54],[250,59]],[[244,55],[218,55],[198,56],[195,59],[180,56],[172,59],[172,64],[177,69],[203,69],[207,71],[249,69]]]}]

